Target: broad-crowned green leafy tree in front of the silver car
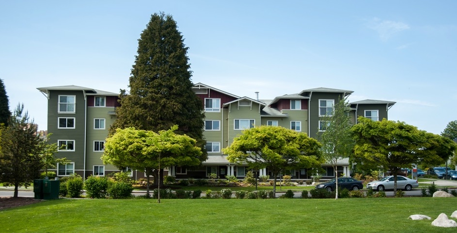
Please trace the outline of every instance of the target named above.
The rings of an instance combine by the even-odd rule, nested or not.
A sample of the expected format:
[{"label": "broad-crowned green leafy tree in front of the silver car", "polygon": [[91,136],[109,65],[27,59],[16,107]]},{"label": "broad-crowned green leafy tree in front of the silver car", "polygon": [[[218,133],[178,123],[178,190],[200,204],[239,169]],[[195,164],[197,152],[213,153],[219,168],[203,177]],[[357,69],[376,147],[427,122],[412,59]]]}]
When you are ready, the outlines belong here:
[{"label": "broad-crowned green leafy tree in front of the silver car", "polygon": [[412,164],[441,164],[456,150],[449,138],[418,130],[400,121],[358,118],[351,129],[356,145],[353,156],[362,163],[390,170],[397,192],[397,174]]}]

